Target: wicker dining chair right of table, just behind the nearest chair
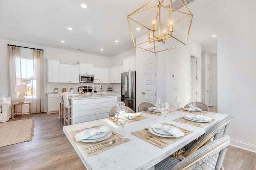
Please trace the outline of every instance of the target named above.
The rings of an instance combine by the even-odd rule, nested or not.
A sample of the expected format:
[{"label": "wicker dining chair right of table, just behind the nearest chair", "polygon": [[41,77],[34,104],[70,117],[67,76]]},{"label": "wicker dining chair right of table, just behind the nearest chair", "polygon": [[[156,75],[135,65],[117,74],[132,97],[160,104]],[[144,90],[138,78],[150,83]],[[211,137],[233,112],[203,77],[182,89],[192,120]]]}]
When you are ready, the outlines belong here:
[{"label": "wicker dining chair right of table, just behind the nearest chair", "polygon": [[189,154],[192,154],[197,149],[205,145],[212,137],[214,137],[213,140],[219,139],[220,137],[223,137],[226,135],[227,127],[229,123],[232,121],[233,116],[228,116],[224,118],[223,120],[219,121],[214,125],[212,128],[210,128],[204,135],[202,135],[198,140],[194,140],[185,147],[183,147],[181,150],[184,152],[180,152],[180,150],[176,151],[174,154],[175,158],[179,158],[179,156],[188,156]]}]

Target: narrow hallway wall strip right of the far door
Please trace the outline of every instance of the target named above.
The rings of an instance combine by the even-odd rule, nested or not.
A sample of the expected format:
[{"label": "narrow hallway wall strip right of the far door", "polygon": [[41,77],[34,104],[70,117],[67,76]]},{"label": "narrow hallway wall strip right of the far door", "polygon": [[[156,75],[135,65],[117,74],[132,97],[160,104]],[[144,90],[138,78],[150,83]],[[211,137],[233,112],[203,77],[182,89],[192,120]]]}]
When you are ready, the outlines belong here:
[{"label": "narrow hallway wall strip right of the far door", "polygon": [[218,106],[218,76],[217,76],[217,55],[210,56],[210,72],[211,72],[211,81],[210,81],[210,106]]}]

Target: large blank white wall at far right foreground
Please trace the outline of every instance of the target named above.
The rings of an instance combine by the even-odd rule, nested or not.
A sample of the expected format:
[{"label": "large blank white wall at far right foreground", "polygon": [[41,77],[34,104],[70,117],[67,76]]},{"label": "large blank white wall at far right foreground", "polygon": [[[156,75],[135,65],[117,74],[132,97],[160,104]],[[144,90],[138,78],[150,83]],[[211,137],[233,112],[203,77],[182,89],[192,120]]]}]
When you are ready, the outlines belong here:
[{"label": "large blank white wall at far right foreground", "polygon": [[256,152],[256,1],[217,3],[218,112],[234,116],[232,145]]}]

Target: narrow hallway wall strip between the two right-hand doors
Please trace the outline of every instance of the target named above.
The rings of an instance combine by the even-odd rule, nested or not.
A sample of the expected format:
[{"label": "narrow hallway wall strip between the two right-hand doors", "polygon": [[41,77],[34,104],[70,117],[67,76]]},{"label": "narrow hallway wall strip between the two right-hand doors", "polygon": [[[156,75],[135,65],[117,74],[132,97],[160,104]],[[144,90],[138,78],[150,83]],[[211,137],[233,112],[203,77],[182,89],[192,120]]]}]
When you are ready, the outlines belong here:
[{"label": "narrow hallway wall strip between the two right-hand doors", "polygon": [[[202,102],[206,103],[206,64],[211,66],[210,55],[202,53]],[[212,92],[212,91],[211,91]],[[210,93],[211,96],[211,93]]]}]

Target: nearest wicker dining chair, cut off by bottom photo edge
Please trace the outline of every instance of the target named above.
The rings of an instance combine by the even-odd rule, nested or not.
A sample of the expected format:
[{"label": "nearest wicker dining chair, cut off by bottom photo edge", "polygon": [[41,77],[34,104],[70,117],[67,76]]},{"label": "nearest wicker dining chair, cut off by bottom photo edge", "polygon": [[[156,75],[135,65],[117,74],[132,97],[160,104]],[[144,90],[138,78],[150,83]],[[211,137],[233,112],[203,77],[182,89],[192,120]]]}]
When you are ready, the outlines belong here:
[{"label": "nearest wicker dining chair, cut off by bottom photo edge", "polygon": [[229,145],[230,137],[223,136],[204,145],[182,161],[168,156],[155,165],[155,170],[220,170]]}]

